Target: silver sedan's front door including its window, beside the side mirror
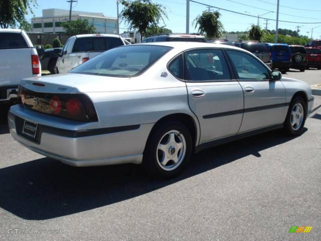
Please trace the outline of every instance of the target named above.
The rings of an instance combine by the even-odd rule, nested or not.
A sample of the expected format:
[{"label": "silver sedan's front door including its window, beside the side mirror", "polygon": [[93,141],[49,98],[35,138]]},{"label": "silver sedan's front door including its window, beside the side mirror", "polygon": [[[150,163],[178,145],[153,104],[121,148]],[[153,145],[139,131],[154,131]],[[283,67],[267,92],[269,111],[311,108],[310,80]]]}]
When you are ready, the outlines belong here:
[{"label": "silver sedan's front door including its window, beside the side mirror", "polygon": [[226,52],[244,93],[239,134],[281,124],[287,109],[281,80],[271,81],[270,70],[254,56],[238,50]]}]

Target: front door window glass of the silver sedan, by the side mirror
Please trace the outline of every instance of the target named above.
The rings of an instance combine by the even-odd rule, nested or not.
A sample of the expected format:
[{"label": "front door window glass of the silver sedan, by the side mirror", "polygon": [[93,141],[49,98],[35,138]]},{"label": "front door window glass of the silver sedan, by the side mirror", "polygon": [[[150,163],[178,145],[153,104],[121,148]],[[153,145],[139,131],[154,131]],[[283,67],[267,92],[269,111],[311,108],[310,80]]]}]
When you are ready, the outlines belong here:
[{"label": "front door window glass of the silver sedan, by the side mirror", "polygon": [[257,59],[240,51],[226,51],[236,69],[238,79],[268,80],[270,71]]}]

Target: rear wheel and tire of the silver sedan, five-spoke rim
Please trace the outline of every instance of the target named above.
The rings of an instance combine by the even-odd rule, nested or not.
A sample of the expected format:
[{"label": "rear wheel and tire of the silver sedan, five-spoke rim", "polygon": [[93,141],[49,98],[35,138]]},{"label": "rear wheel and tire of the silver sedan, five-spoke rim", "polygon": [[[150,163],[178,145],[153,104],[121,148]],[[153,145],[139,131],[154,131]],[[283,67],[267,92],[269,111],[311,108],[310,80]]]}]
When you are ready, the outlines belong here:
[{"label": "rear wheel and tire of the silver sedan, five-spoke rim", "polygon": [[143,167],[157,178],[178,175],[192,154],[192,137],[188,128],[177,121],[158,125],[150,134],[143,154]]}]

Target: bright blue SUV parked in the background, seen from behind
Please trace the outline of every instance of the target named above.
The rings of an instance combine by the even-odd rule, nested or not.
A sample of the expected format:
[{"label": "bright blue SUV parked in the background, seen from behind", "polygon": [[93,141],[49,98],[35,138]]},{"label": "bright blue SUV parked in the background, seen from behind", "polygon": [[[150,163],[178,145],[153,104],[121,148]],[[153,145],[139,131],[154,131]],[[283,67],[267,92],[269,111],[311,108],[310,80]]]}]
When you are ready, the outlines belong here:
[{"label": "bright blue SUV parked in the background, seen from behind", "polygon": [[292,64],[290,46],[281,43],[266,43],[266,46],[271,53],[272,69],[278,69],[285,74]]}]

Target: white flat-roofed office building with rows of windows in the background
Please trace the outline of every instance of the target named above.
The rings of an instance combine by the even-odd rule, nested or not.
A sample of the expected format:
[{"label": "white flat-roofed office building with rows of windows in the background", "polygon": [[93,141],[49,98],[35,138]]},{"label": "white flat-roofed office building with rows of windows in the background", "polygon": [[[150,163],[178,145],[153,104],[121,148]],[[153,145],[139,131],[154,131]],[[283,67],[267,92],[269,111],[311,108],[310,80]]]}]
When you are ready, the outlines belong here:
[{"label": "white flat-roofed office building with rows of windows in the background", "polygon": [[[105,17],[103,13],[88,13],[72,11],[71,20],[88,19],[89,24],[94,25],[96,33],[116,34],[117,18]],[[33,32],[40,33],[63,33],[62,22],[69,21],[69,11],[64,9],[43,9],[42,17],[31,19]]]}]

